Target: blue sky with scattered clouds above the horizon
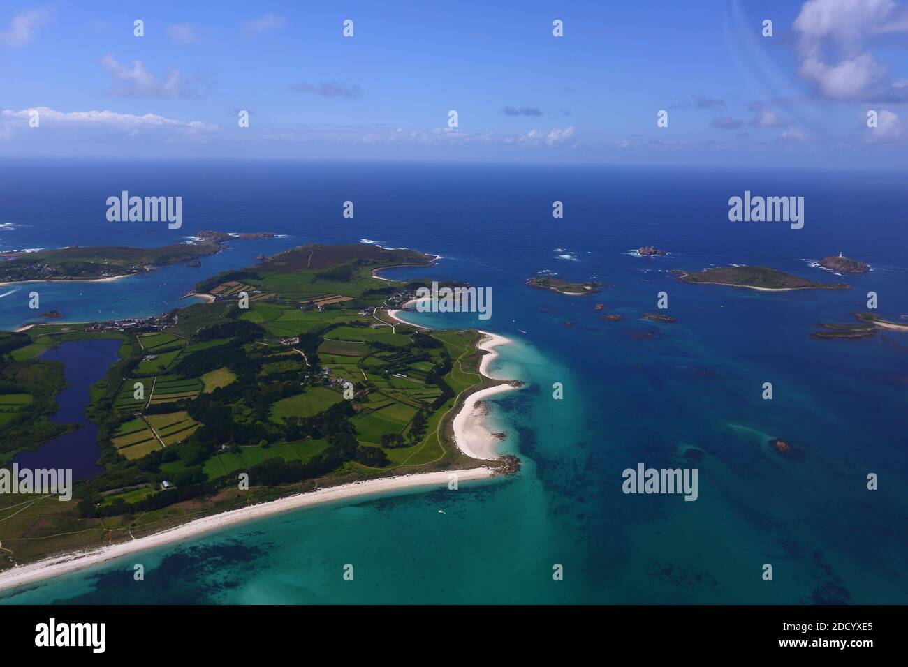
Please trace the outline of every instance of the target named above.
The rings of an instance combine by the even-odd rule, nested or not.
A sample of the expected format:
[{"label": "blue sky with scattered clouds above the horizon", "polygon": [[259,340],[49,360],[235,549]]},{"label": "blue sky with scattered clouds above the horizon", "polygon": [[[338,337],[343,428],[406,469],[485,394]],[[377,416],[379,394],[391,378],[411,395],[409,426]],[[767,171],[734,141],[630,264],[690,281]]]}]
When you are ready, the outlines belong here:
[{"label": "blue sky with scattered clouds above the horizon", "polygon": [[890,168],[906,46],[897,0],[0,2],[0,156]]}]

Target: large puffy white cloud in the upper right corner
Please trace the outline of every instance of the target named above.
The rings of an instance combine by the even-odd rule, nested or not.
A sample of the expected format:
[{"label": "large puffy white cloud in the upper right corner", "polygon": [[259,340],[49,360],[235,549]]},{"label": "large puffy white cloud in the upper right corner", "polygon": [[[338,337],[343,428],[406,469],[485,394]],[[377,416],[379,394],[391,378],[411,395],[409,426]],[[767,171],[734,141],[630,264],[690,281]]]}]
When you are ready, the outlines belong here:
[{"label": "large puffy white cloud in the upper right corner", "polygon": [[800,74],[824,97],[908,99],[908,89],[890,81],[888,68],[866,48],[876,35],[908,34],[908,13],[894,0],[808,0],[793,27],[799,34]]}]

